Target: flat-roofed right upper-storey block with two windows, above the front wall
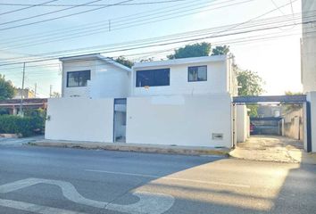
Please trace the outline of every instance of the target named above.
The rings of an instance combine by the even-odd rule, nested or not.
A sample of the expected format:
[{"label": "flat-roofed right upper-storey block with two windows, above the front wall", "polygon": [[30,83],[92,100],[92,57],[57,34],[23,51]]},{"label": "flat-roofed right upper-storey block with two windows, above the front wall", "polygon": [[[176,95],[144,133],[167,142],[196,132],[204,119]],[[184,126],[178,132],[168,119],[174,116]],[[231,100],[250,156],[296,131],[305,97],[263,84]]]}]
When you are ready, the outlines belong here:
[{"label": "flat-roofed right upper-storey block with two windows, above the front wall", "polygon": [[237,95],[237,82],[226,55],[136,63],[131,96]]}]

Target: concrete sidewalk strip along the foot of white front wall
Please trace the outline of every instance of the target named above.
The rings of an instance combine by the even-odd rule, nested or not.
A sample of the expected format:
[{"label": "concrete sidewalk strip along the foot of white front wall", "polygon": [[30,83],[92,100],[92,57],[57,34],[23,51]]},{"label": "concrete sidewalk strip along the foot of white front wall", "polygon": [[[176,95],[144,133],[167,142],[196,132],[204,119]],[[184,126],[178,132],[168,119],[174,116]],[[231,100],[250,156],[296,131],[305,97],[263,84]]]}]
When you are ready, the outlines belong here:
[{"label": "concrete sidewalk strip along the foot of white front wall", "polygon": [[165,154],[185,154],[185,155],[220,155],[229,156],[228,148],[212,148],[203,146],[180,146],[180,145],[161,145],[161,144],[126,144],[126,143],[94,143],[94,142],[74,142],[39,140],[29,143],[30,145],[82,148],[82,149],[102,149],[123,152],[151,152]]}]

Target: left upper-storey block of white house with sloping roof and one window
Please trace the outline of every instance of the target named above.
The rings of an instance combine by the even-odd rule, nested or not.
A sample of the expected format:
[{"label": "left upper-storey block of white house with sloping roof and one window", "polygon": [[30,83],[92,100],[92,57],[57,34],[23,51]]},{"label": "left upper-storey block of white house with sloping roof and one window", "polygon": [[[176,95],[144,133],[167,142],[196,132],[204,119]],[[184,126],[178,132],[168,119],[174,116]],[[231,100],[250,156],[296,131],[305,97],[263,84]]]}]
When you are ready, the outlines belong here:
[{"label": "left upper-storey block of white house with sloping roof and one window", "polygon": [[100,54],[61,58],[62,97],[129,96],[131,70]]}]

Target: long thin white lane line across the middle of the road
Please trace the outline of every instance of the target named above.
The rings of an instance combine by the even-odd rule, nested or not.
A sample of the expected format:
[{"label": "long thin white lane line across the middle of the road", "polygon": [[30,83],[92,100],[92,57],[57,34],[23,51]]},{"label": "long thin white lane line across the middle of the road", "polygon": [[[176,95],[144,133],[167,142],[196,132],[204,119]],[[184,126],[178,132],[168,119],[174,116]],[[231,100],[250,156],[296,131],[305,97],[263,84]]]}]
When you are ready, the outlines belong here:
[{"label": "long thin white lane line across the middle of the road", "polygon": [[154,175],[96,170],[96,169],[85,169],[85,171],[101,172],[101,173],[115,174],[115,175],[121,175],[121,176],[150,177],[150,178],[155,178],[155,179],[159,178],[159,179],[169,179],[169,180],[177,180],[177,181],[187,181],[187,182],[194,182],[194,183],[200,183],[200,184],[206,184],[206,185],[227,185],[227,186],[234,186],[234,187],[241,187],[241,188],[250,188],[250,185],[239,185],[239,184],[230,184],[230,183],[223,183],[223,182],[216,182],[216,181],[194,180],[194,179],[187,179],[187,178],[180,178],[180,177],[159,177],[159,176],[154,176]]}]

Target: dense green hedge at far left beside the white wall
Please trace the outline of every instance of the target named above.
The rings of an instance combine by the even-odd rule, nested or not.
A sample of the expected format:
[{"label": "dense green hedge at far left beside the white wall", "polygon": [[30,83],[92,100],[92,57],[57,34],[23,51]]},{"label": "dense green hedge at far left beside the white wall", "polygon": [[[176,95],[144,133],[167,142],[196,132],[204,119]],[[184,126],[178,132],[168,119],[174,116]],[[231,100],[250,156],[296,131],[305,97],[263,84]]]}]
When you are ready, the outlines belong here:
[{"label": "dense green hedge at far left beside the white wall", "polygon": [[20,117],[16,115],[1,115],[0,133],[33,136],[43,130],[44,124],[45,119],[42,119],[40,116]]}]

